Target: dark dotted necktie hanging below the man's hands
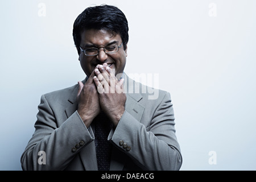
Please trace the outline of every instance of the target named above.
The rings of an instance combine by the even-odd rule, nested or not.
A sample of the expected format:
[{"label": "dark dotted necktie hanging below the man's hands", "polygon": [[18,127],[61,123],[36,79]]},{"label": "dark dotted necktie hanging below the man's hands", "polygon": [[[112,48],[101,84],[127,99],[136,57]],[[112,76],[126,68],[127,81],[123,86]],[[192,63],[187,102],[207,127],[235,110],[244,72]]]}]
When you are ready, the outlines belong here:
[{"label": "dark dotted necktie hanging below the man's hands", "polygon": [[109,171],[112,144],[108,142],[108,135],[112,128],[112,123],[104,113],[97,115],[94,122],[98,170]]}]

